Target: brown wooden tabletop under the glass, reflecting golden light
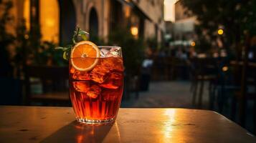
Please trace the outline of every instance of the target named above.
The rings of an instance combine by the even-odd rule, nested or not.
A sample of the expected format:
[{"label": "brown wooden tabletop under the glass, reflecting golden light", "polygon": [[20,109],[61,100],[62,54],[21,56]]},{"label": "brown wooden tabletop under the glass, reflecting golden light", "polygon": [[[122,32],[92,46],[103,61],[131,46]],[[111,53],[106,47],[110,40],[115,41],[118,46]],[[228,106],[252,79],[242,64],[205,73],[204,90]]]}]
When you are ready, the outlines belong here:
[{"label": "brown wooden tabletop under the glass, reflecting golden light", "polygon": [[113,124],[75,121],[70,107],[0,107],[0,142],[256,142],[220,114],[195,109],[120,109]]}]

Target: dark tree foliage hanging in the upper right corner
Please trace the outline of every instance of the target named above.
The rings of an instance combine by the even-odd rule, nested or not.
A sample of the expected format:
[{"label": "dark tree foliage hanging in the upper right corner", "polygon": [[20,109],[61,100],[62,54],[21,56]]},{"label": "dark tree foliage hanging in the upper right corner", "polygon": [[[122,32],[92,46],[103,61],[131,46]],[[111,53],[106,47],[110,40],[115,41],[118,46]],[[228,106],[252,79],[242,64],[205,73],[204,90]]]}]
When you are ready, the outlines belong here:
[{"label": "dark tree foliage hanging in the upper right corner", "polygon": [[[181,0],[181,4],[186,7],[186,14],[196,16],[200,41],[212,43],[220,39],[224,48],[235,48],[238,52],[238,45],[245,39],[244,31],[256,34],[256,1]],[[217,35],[219,28],[224,29],[222,36]]]}]

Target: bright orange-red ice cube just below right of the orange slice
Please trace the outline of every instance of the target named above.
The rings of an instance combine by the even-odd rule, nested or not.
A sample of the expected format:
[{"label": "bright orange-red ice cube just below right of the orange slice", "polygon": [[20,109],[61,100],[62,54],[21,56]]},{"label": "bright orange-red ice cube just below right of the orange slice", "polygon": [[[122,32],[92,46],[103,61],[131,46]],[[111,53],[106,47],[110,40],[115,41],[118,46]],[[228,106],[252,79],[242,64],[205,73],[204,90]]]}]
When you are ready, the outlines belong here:
[{"label": "bright orange-red ice cube just below right of the orange slice", "polygon": [[98,82],[98,83],[101,84],[105,81],[109,72],[110,72],[110,69],[108,69],[105,66],[101,66],[100,64],[98,64],[90,72],[90,79],[93,80],[94,82]]}]

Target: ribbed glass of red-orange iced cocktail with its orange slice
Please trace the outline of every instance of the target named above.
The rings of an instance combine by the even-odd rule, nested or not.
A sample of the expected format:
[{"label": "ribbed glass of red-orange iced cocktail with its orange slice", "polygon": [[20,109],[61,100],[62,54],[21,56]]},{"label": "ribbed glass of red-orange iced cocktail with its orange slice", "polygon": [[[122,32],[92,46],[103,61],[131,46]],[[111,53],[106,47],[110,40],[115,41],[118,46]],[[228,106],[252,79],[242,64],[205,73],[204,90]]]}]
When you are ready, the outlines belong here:
[{"label": "ribbed glass of red-orange iced cocktail with its orange slice", "polygon": [[86,41],[76,45],[70,57],[70,98],[77,121],[115,120],[123,94],[121,48]]}]

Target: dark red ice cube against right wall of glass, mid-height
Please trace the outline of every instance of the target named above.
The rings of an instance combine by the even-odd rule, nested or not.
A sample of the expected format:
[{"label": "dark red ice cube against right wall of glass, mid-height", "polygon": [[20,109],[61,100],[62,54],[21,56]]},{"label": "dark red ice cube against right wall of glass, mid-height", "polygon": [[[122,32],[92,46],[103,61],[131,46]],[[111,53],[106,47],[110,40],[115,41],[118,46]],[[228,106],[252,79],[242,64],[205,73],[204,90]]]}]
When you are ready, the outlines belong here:
[{"label": "dark red ice cube against right wall of glass, mid-height", "polygon": [[100,84],[100,87],[104,87],[106,89],[118,89],[123,84],[123,75],[118,72],[110,72],[108,78]]}]

